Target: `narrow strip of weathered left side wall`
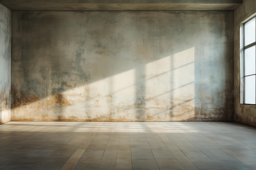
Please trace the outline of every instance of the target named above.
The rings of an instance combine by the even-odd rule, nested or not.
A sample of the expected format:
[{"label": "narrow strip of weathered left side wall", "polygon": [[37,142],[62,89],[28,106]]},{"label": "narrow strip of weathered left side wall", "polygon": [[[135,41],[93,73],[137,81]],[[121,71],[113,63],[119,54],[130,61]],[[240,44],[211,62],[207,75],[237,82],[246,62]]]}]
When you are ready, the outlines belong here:
[{"label": "narrow strip of weathered left side wall", "polygon": [[11,121],[11,11],[0,4],[0,124]]}]

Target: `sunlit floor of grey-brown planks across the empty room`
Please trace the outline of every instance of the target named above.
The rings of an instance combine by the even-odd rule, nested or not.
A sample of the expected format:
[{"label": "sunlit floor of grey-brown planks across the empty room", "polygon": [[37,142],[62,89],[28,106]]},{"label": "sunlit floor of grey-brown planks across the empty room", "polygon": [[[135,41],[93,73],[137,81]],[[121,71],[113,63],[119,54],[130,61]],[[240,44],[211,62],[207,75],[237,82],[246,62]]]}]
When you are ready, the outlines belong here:
[{"label": "sunlit floor of grey-brown planks across the empty room", "polygon": [[0,125],[0,170],[256,170],[256,128],[233,122]]}]

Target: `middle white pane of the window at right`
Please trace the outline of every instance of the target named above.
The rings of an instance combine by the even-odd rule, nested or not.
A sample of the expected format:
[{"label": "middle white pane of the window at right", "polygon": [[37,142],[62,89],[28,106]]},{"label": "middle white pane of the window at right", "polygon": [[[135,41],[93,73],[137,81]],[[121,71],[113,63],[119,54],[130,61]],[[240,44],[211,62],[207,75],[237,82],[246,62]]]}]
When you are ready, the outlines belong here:
[{"label": "middle white pane of the window at right", "polygon": [[255,46],[252,46],[245,50],[245,75],[252,75],[255,72]]}]

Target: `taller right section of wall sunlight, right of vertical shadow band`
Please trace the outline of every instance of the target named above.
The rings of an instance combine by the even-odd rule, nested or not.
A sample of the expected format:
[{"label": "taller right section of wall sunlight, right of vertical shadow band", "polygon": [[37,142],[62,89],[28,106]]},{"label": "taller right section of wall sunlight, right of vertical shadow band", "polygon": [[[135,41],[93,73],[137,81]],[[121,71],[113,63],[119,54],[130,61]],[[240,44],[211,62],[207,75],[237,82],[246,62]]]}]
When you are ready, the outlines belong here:
[{"label": "taller right section of wall sunlight, right of vertical shadow band", "polygon": [[150,115],[174,121],[194,117],[195,48],[150,62],[145,68]]}]

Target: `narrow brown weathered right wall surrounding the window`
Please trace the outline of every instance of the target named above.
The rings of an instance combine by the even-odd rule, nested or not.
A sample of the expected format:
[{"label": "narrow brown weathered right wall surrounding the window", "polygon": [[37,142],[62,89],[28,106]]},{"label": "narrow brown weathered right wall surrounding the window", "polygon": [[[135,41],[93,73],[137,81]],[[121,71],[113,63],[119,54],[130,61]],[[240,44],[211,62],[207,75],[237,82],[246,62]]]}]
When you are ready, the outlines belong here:
[{"label": "narrow brown weathered right wall surrounding the window", "polygon": [[240,104],[240,23],[256,12],[255,0],[234,11],[234,121],[256,126],[256,106]]}]

